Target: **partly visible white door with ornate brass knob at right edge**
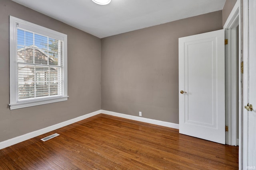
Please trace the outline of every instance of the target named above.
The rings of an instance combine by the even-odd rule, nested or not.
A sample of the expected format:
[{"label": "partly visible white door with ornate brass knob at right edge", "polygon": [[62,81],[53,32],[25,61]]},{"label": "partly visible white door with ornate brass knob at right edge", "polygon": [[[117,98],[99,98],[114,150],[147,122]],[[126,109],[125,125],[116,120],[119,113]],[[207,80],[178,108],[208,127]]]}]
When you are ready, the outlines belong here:
[{"label": "partly visible white door with ornate brass knob at right edge", "polygon": [[[249,7],[249,8],[248,8]],[[256,169],[256,1],[244,0],[243,169]]]}]

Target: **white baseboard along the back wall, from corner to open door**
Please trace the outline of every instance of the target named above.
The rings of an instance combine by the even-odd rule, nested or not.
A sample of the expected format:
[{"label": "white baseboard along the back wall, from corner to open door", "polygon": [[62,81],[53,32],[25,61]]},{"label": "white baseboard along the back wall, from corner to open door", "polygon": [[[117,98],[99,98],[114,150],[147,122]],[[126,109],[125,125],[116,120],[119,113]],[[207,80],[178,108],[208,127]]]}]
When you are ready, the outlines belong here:
[{"label": "white baseboard along the back wall, from corner to open door", "polygon": [[174,128],[174,129],[179,129],[179,124],[176,124],[176,123],[170,123],[170,122],[166,122],[166,121],[148,119],[148,118],[145,118],[145,117],[126,115],[126,114],[123,114],[123,113],[116,113],[114,111],[107,111],[107,110],[101,110],[101,113],[104,113],[106,115],[112,115],[112,116],[116,116],[116,117],[122,117],[122,118],[126,118],[126,119],[136,120],[136,121],[142,121],[142,122],[145,122],[145,123],[151,123],[151,124],[154,124],[154,125],[160,125],[160,126],[165,126],[165,127],[171,127],[171,128]]}]

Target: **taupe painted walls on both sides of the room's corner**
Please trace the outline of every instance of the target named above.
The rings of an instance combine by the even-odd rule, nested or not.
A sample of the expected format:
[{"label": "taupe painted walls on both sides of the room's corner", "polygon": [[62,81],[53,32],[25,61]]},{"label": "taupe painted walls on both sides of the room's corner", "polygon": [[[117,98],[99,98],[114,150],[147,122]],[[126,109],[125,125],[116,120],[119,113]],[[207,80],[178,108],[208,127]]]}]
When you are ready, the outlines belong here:
[{"label": "taupe painted walls on both sides of the room's corner", "polygon": [[[9,109],[9,15],[68,35],[68,101]],[[178,123],[178,38],[217,29],[222,11],[100,40],[1,0],[0,141],[99,109]]]}]

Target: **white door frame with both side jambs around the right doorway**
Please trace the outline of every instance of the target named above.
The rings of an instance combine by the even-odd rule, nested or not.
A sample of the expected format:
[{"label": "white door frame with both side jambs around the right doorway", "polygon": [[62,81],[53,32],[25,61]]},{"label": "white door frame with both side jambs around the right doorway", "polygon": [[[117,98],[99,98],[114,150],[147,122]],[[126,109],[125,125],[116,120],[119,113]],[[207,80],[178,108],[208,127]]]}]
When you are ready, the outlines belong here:
[{"label": "white door frame with both side jambs around the right doorway", "polygon": [[[228,19],[226,20],[223,28],[226,29],[227,31],[227,37],[228,37],[228,45],[227,45],[227,51],[225,52],[225,58],[226,58],[226,125],[229,128],[229,131],[226,132],[226,144],[228,145],[239,145],[239,169],[242,167],[242,144],[243,144],[243,137],[242,137],[242,124],[243,124],[243,119],[242,119],[242,114],[243,114],[243,98],[242,98],[242,84],[239,83],[238,86],[238,100],[239,100],[239,106],[238,106],[238,111],[239,111],[239,141],[237,143],[236,141],[236,134],[237,134],[237,124],[236,124],[236,69],[239,70],[239,73],[241,72],[240,68],[240,63],[243,61],[243,56],[242,56],[242,8],[241,8],[241,3],[242,0],[237,0],[236,4],[234,5],[230,15],[228,16]],[[238,63],[239,67],[237,68],[236,65],[236,57],[233,56],[232,54],[232,49],[234,48],[234,44],[236,44],[236,35],[234,35],[235,31],[233,30],[235,27],[239,25],[239,53],[238,53]],[[235,47],[236,48],[236,47]],[[234,50],[233,50],[234,51]],[[233,57],[232,57],[233,56]],[[235,70],[234,70],[235,69]],[[241,80],[241,74],[239,74],[238,80]],[[239,81],[240,82],[240,81]],[[235,93],[235,94],[234,94]],[[234,106],[235,105],[235,106]]]}]

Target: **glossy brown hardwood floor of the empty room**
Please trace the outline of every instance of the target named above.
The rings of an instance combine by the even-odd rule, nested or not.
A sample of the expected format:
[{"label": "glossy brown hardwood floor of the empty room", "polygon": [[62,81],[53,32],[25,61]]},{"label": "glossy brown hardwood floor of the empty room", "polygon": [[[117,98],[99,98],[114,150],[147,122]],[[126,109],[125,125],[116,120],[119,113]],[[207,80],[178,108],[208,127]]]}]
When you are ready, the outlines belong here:
[{"label": "glossy brown hardwood floor of the empty room", "polygon": [[[53,133],[60,135],[40,140]],[[231,170],[238,147],[100,114],[0,150],[0,169]]]}]

